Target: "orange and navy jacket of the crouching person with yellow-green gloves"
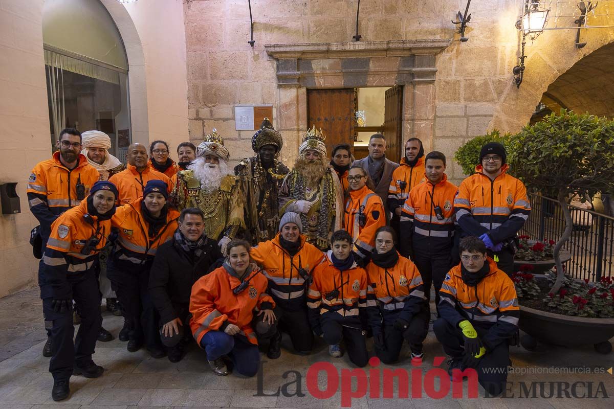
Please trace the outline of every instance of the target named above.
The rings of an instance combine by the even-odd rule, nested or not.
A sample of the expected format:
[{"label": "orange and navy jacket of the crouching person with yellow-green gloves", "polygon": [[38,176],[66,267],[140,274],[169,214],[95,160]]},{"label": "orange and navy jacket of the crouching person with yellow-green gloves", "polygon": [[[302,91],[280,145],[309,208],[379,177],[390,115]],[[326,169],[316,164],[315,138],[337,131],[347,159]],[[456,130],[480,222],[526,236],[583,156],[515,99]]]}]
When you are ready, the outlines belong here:
[{"label": "orange and navy jacket of the crouching person with yellow-green gloves", "polygon": [[492,350],[516,334],[520,308],[510,277],[497,269],[493,259],[486,262],[489,272],[475,287],[462,280],[461,264],[453,267],[441,285],[438,310],[441,318],[454,327],[467,319],[474,327],[488,329],[481,340],[487,350]]}]

